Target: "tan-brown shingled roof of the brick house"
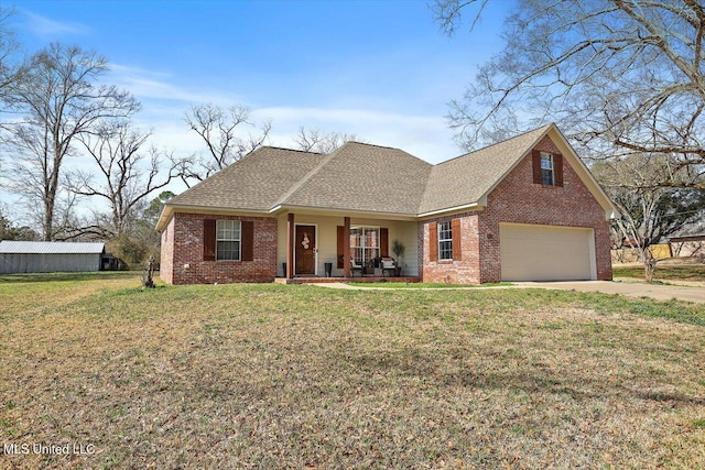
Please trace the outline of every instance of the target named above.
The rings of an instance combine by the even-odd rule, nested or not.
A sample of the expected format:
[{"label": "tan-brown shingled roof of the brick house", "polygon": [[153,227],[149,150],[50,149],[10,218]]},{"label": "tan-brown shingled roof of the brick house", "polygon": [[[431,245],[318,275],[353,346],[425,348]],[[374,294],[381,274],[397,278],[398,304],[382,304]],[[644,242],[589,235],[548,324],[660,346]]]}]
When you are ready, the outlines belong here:
[{"label": "tan-brown shingled roof of the brick house", "polygon": [[[261,147],[166,204],[158,228],[174,209],[273,212],[310,208],[424,215],[481,206],[495,186],[551,132],[575,155],[555,124],[431,165],[402,150],[347,142],[323,155]],[[614,208],[577,155],[571,156],[600,204]]]}]

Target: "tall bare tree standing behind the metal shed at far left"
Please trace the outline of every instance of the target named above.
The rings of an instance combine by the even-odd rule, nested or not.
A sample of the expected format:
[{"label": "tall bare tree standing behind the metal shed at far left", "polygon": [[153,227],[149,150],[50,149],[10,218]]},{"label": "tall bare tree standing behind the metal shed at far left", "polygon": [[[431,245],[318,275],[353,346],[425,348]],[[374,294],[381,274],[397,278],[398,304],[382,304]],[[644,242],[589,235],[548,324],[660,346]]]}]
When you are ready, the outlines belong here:
[{"label": "tall bare tree standing behind the metal shed at far left", "polygon": [[22,79],[9,86],[8,102],[21,120],[6,123],[12,157],[4,182],[40,211],[43,239],[53,240],[62,167],[74,140],[102,119],[132,114],[140,103],[127,91],[98,85],[107,61],[80,47],[52,44],[24,68]]}]

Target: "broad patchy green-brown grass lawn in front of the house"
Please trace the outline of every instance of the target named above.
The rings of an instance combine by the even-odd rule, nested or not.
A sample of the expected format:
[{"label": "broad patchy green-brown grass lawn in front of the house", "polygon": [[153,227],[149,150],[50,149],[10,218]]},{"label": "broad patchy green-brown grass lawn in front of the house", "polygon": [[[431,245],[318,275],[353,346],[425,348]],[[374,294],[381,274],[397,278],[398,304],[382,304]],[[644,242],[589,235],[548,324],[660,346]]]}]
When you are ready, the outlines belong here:
[{"label": "broad patchy green-brown grass lawn in front of the house", "polygon": [[1,468],[705,468],[705,306],[0,276]]}]

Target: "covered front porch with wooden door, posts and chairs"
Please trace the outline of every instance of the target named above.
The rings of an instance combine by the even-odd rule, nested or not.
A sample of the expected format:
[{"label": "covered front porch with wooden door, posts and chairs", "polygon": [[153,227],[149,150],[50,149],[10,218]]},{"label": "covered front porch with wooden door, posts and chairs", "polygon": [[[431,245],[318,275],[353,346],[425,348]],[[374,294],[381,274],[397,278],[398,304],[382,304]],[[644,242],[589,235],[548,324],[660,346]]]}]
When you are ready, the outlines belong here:
[{"label": "covered front porch with wooden door, posts and chairs", "polygon": [[[402,217],[280,214],[276,282],[419,282],[416,239],[417,222]],[[393,251],[400,245],[401,255]],[[397,270],[382,271],[382,258],[393,258]]]}]

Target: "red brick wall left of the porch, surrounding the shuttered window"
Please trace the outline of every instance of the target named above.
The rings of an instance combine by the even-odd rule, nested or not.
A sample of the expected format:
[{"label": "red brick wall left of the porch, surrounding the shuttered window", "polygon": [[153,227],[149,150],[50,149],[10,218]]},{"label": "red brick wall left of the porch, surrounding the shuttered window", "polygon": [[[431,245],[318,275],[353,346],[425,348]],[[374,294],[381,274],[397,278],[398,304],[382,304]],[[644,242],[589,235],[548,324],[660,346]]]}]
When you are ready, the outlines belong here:
[{"label": "red brick wall left of the porch, surrounding the shuttered window", "polygon": [[[253,222],[253,261],[203,261],[204,219],[250,220]],[[176,212],[171,244],[172,284],[273,282],[276,274],[276,219],[273,217],[214,216]],[[165,233],[169,232],[169,227]],[[166,247],[164,241],[166,239]],[[162,256],[169,254],[170,236],[162,234]],[[188,267],[186,267],[188,265]],[[167,269],[167,271],[170,270]]]}]

